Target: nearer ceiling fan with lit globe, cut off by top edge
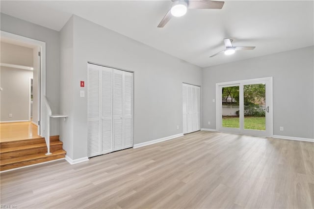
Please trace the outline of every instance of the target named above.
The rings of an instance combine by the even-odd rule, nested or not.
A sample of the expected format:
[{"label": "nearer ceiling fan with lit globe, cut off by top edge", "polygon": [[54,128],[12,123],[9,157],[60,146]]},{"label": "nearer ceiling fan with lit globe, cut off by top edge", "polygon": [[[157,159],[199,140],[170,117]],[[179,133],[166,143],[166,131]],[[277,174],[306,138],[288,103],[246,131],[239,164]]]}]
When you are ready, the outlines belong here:
[{"label": "nearer ceiling fan with lit globe, cut off by top edge", "polygon": [[168,21],[174,17],[181,17],[185,15],[187,9],[221,9],[224,1],[214,0],[172,0],[171,9],[160,21],[158,27],[165,26]]}]

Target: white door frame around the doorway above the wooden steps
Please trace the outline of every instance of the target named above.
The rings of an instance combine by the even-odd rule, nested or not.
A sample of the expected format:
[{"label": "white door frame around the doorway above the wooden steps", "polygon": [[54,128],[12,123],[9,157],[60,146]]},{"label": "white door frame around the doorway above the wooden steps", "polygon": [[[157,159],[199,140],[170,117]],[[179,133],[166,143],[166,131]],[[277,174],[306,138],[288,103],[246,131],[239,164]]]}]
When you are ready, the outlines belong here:
[{"label": "white door frame around the doorway above the wooden steps", "polygon": [[[39,121],[43,121],[43,114],[42,114],[42,106],[44,105],[44,97],[46,96],[46,43],[42,41],[38,41],[32,38],[27,38],[21,35],[9,33],[0,30],[1,37],[17,40],[19,42],[23,42],[26,44],[34,45],[39,48],[40,56],[39,56],[39,76],[38,76],[38,83],[39,83],[39,88],[37,91],[37,95],[39,96],[38,100],[38,119]],[[34,79],[34,78],[33,78]],[[41,135],[41,133],[44,132],[44,127],[40,126],[40,124],[36,123],[38,126],[37,134]]]}]

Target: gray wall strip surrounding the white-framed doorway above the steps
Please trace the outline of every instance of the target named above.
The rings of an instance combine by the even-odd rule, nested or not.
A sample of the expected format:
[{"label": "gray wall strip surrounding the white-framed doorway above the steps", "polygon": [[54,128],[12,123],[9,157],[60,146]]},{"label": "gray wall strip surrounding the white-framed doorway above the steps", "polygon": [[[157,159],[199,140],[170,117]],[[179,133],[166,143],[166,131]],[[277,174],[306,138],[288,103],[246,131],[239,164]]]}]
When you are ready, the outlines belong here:
[{"label": "gray wall strip surrounding the white-framed doorway above the steps", "polygon": [[[24,20],[0,14],[0,29],[9,33],[46,42],[46,97],[52,114],[60,111],[60,46],[59,32]],[[59,134],[59,120],[51,123],[51,135]]]}]

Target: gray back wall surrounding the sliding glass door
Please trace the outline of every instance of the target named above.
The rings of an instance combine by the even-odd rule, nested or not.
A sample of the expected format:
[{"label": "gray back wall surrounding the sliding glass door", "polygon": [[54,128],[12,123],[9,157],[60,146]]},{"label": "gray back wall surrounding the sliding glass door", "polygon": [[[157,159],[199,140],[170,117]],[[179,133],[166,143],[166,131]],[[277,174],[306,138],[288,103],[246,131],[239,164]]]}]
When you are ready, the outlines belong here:
[{"label": "gray back wall surrounding the sliding glass door", "polygon": [[202,128],[216,129],[216,83],[273,77],[274,134],[314,138],[313,51],[307,47],[203,69]]}]

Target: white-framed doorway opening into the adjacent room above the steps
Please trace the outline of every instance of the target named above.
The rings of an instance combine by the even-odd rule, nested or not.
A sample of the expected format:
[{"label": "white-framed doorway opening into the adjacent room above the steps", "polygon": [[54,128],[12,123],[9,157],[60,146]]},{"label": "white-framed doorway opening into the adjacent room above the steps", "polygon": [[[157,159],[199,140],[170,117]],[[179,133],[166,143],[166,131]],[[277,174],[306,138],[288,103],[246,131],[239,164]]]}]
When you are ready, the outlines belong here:
[{"label": "white-framed doorway opening into the adjacent room above the steps", "polygon": [[[28,129],[23,131],[21,139],[40,136],[44,131],[40,121],[43,117],[41,100],[46,93],[46,43],[5,31],[0,32],[1,132],[8,127],[21,125]],[[19,93],[22,96],[18,95]],[[14,132],[16,133],[7,131],[6,138],[17,139],[19,136]],[[1,138],[2,136],[3,134]]]}]

